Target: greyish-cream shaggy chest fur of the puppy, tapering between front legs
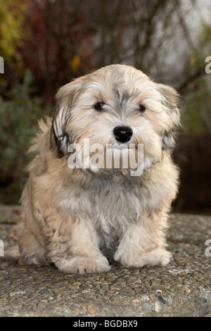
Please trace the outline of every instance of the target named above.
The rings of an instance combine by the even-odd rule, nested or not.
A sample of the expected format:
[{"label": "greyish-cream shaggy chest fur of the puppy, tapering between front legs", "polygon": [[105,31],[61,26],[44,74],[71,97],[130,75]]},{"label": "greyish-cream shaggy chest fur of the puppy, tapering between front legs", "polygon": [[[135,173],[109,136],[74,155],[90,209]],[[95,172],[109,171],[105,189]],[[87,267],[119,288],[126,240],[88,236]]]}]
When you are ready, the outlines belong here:
[{"label": "greyish-cream shaggy chest fur of the puppy, tapering between front legs", "polygon": [[71,216],[94,226],[99,248],[113,256],[119,239],[141,213],[141,186],[132,180],[94,177],[68,185],[60,206]]}]

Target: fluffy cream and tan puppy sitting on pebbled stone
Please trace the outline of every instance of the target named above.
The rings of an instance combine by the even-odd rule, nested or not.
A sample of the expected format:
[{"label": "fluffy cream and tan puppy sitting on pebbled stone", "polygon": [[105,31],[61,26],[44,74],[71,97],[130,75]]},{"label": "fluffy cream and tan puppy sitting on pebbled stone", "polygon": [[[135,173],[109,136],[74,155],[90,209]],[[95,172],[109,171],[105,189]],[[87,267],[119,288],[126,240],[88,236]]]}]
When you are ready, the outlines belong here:
[{"label": "fluffy cream and tan puppy sitting on pebbled stone", "polygon": [[[49,262],[65,273],[107,271],[113,260],[137,268],[167,265],[167,213],[178,186],[171,158],[178,103],[172,87],[127,65],[109,65],[59,89],[53,120],[40,122],[30,148],[36,156],[16,229],[21,263]],[[129,165],[68,166],[72,144],[81,146],[81,161],[93,156],[84,138],[111,151],[129,144],[138,151],[143,144],[143,173],[132,176]]]}]

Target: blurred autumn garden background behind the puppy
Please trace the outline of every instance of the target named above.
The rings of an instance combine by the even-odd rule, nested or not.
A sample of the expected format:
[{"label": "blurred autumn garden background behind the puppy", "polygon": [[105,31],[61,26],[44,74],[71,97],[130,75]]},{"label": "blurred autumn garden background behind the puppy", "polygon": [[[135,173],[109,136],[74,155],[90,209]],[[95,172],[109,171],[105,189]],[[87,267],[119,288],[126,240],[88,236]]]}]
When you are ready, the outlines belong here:
[{"label": "blurred autumn garden background behind the puppy", "polygon": [[183,97],[173,211],[211,214],[210,0],[0,0],[0,56],[0,204],[18,204],[58,87],[123,63]]}]

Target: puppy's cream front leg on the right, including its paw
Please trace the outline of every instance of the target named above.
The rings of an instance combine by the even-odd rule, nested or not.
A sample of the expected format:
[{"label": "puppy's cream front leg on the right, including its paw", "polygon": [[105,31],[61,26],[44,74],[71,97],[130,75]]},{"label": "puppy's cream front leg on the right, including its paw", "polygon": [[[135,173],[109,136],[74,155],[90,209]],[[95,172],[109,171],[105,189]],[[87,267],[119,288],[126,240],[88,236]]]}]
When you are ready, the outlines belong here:
[{"label": "puppy's cream front leg on the right, including its paw", "polygon": [[123,266],[155,266],[170,262],[171,253],[165,249],[166,215],[143,216],[129,226],[114,254]]}]

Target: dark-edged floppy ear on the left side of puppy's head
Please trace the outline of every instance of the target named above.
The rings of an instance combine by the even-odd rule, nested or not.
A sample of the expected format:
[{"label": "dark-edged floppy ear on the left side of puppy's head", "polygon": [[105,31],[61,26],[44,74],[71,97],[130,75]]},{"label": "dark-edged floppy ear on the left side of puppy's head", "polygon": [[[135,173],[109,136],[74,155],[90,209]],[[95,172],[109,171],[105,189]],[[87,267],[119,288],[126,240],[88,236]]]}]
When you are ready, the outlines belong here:
[{"label": "dark-edged floppy ear on the left side of puppy's head", "polygon": [[58,158],[62,158],[68,151],[70,144],[70,124],[71,108],[79,95],[79,89],[82,87],[83,77],[73,80],[67,85],[61,87],[56,94],[56,106],[53,112],[51,125],[51,149],[56,146]]}]

